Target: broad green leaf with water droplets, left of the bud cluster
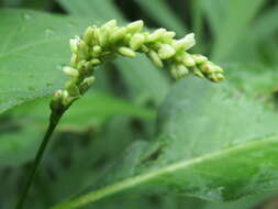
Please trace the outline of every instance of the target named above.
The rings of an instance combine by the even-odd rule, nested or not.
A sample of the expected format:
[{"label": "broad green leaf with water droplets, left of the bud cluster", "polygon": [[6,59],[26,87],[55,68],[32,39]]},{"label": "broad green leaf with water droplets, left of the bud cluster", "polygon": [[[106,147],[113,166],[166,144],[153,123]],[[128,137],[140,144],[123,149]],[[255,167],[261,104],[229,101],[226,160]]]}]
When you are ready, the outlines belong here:
[{"label": "broad green leaf with water droplets, left of the bud cluster", "polygon": [[69,62],[68,40],[86,24],[29,10],[0,13],[1,113],[63,87],[67,77],[59,65]]}]

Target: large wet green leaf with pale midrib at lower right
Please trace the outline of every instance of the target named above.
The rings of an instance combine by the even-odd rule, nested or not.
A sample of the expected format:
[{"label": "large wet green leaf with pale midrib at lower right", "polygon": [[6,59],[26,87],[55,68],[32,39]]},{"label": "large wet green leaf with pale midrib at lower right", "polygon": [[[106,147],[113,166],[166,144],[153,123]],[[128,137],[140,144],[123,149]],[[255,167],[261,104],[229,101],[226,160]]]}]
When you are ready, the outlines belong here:
[{"label": "large wet green leaf with pale midrib at lower right", "polygon": [[133,144],[91,191],[53,209],[122,193],[226,201],[276,188],[276,121],[273,111],[230,85],[184,80],[160,108],[156,141]]}]

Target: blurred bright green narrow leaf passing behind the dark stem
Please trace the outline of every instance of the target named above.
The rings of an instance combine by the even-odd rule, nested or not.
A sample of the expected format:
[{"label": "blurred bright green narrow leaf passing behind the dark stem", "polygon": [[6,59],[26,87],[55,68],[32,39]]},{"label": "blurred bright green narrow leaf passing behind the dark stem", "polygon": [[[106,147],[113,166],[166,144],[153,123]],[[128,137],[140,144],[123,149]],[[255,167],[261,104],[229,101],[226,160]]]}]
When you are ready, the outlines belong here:
[{"label": "blurred bright green narrow leaf passing behind the dark stem", "polygon": [[[42,125],[49,116],[48,99],[35,101],[15,109],[12,116],[15,118],[30,118]],[[137,119],[151,120],[155,118],[155,111],[144,107],[93,90],[74,105],[63,118],[58,130],[82,130],[86,127],[100,127],[114,116],[129,116]]]}]

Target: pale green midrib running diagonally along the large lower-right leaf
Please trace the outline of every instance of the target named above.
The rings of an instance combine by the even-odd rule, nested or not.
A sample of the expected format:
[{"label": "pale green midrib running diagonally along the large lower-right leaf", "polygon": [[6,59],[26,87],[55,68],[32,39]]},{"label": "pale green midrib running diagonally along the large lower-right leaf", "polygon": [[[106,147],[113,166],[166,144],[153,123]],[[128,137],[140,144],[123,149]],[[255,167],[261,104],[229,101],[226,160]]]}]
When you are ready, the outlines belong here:
[{"label": "pale green midrib running diagonally along the large lower-right leaf", "polygon": [[188,168],[188,167],[197,165],[197,164],[205,163],[205,161],[211,161],[213,158],[219,158],[221,156],[223,157],[223,156],[233,154],[235,152],[245,151],[248,148],[256,148],[256,147],[259,148],[259,147],[262,147],[262,145],[271,145],[271,144],[278,143],[277,138],[278,138],[278,134],[274,134],[270,136],[268,135],[268,136],[260,138],[260,139],[254,139],[252,142],[238,144],[233,147],[229,147],[224,151],[218,151],[218,152],[210,153],[210,154],[207,154],[207,155],[203,155],[200,157],[174,163],[174,164],[168,165],[166,167],[163,167],[163,168],[159,168],[156,170],[152,170],[147,174],[133,176],[133,177],[126,178],[125,180],[115,183],[111,186],[107,186],[101,189],[88,193],[87,195],[84,195],[84,196],[76,198],[71,201],[70,200],[65,201],[64,204],[57,205],[51,209],[80,208],[89,202],[94,202],[94,201],[98,201],[104,197],[114,195],[116,193],[130,189],[135,186],[140,186],[144,183],[147,183],[148,180],[152,180],[152,179],[154,179],[158,176],[165,175],[165,174],[178,172],[180,169]]}]

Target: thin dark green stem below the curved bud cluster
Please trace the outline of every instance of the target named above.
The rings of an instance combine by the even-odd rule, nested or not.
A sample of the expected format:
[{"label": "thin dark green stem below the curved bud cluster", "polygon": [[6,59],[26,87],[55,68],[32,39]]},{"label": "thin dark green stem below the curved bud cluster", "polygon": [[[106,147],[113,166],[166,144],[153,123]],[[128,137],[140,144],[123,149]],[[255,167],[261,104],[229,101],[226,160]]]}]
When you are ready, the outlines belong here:
[{"label": "thin dark green stem below the curved bud cluster", "polygon": [[30,172],[30,175],[29,175],[26,185],[24,187],[24,190],[23,190],[23,193],[20,197],[20,200],[16,205],[16,209],[22,209],[24,207],[24,202],[26,200],[26,196],[27,196],[27,193],[31,188],[31,185],[34,180],[38,164],[41,163],[41,161],[43,158],[43,155],[44,155],[44,152],[45,152],[45,148],[46,148],[46,146],[49,142],[49,139],[51,139],[53,132],[55,131],[55,128],[57,127],[57,124],[58,124],[58,122],[59,122],[59,120],[60,120],[60,118],[62,118],[62,116],[64,114],[65,111],[66,111],[66,109],[63,109],[59,112],[52,112],[52,114],[51,114],[47,131],[45,132],[44,139],[43,139],[43,141],[42,141],[42,143],[41,143],[41,145],[40,145],[40,147],[36,152],[34,165],[33,165],[33,167]]}]

